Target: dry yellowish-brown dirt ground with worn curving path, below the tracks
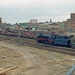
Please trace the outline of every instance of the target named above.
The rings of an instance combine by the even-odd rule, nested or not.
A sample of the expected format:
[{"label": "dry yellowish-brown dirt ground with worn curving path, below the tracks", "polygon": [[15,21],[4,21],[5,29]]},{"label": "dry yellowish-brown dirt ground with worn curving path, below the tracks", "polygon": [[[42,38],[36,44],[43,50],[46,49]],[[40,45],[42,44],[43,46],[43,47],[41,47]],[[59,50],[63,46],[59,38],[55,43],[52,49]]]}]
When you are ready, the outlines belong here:
[{"label": "dry yellowish-brown dirt ground with worn curving path, below the tracks", "polygon": [[75,56],[0,41],[0,74],[66,75]]}]

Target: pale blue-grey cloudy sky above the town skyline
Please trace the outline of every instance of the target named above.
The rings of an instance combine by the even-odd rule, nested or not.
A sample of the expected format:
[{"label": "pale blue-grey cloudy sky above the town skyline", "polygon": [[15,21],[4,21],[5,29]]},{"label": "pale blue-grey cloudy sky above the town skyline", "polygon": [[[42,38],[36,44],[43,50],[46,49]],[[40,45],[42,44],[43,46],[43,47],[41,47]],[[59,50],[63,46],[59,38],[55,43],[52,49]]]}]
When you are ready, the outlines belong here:
[{"label": "pale blue-grey cloudy sky above the town skyline", "polygon": [[75,13],[75,0],[0,0],[2,22],[62,22]]}]

